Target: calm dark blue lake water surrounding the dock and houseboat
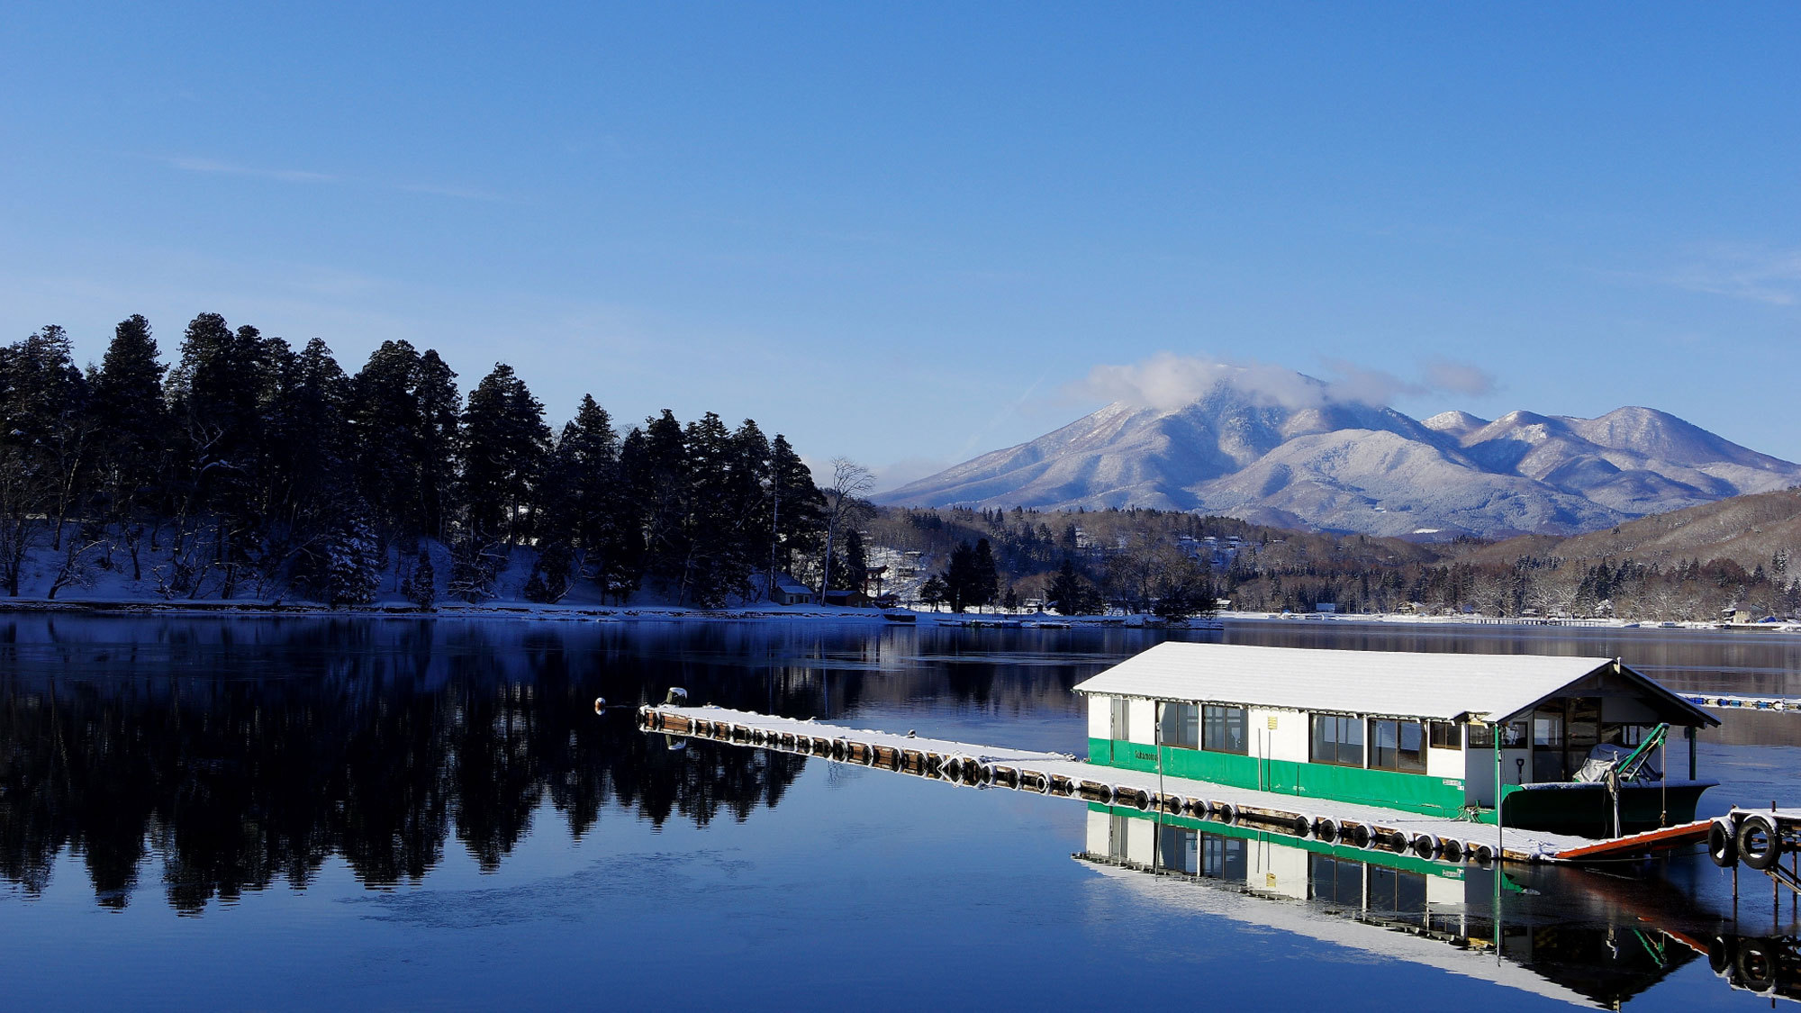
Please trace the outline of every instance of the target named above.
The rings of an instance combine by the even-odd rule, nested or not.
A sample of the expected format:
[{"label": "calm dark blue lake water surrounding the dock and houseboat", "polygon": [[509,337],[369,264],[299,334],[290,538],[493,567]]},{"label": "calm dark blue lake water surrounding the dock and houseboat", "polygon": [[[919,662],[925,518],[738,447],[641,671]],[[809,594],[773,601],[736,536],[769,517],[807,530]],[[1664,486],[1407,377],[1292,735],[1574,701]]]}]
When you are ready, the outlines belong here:
[{"label": "calm dark blue lake water surrounding the dock and houseboat", "polygon": [[[1801,694],[1801,638],[1776,634],[1192,636],[1623,656],[1675,687]],[[1794,908],[1745,872],[1734,923],[1731,874],[1706,856],[1446,881],[1165,827],[1160,863],[1178,874],[1158,876],[1118,862],[1129,820],[1070,800],[670,743],[630,707],[593,712],[596,696],[683,685],[693,701],[1079,753],[1070,685],[1156,638],[0,618],[0,995],[20,1009],[1769,1004],[1733,981],[1765,986],[1760,957],[1796,934]],[[1801,716],[1733,716],[1702,771],[1724,782],[1707,811],[1801,804]],[[1794,966],[1776,977],[1801,995]]]}]

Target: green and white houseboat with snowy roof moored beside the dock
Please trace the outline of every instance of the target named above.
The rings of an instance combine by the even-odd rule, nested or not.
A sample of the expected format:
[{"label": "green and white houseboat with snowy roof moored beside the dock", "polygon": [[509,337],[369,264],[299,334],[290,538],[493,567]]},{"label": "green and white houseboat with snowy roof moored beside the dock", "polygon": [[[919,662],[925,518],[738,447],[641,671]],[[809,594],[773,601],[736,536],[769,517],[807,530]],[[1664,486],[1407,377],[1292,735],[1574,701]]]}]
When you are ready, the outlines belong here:
[{"label": "green and white houseboat with snowy roof moored beside the dock", "polygon": [[1075,692],[1093,764],[1441,818],[1612,838],[1718,784],[1695,730],[1720,721],[1614,658],[1165,642]]}]

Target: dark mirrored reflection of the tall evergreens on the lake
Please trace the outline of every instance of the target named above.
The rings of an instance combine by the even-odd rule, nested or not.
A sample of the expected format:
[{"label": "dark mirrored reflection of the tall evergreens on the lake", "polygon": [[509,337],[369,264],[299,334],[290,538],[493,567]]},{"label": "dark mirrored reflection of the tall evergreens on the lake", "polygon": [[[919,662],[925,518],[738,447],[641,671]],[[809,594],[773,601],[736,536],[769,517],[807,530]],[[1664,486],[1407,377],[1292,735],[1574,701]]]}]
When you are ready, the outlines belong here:
[{"label": "dark mirrored reflection of the tall evergreens on the lake", "polygon": [[[594,716],[598,692],[630,703],[677,681],[668,658],[452,631],[375,647],[303,631],[232,665],[261,671],[283,653],[292,678],[175,678],[187,647],[112,680],[83,669],[117,658],[68,643],[40,658],[56,676],[9,663],[20,672],[0,678],[0,876],[40,892],[70,849],[97,901],[124,907],[160,858],[176,910],[276,880],[303,887],[333,854],[364,883],[391,885],[423,878],[452,833],[495,869],[546,799],[576,836],[609,804],[657,824],[746,818],[805,762],[711,743],[670,752],[629,708]],[[677,667],[722,703],[744,683],[724,658]]]}]

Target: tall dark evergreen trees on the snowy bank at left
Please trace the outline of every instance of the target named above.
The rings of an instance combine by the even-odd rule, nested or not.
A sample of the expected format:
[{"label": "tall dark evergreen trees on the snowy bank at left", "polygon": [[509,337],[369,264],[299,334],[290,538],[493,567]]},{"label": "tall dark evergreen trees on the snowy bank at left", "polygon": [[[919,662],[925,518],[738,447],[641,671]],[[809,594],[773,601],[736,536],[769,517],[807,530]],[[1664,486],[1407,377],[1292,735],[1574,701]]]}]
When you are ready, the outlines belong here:
[{"label": "tall dark evergreen trees on the snowy bank at left", "polygon": [[553,433],[508,364],[466,398],[456,380],[407,341],[346,373],[319,339],[295,350],[218,314],[187,324],[173,366],[142,315],[85,370],[41,328],[0,348],[0,589],[38,577],[54,598],[110,571],[169,598],[353,606],[385,579],[430,606],[529,562],[531,600],[654,586],[711,607],[834,557],[832,586],[861,582],[841,561],[866,485],[821,490],[753,420],[665,409],[621,434],[584,397]]}]

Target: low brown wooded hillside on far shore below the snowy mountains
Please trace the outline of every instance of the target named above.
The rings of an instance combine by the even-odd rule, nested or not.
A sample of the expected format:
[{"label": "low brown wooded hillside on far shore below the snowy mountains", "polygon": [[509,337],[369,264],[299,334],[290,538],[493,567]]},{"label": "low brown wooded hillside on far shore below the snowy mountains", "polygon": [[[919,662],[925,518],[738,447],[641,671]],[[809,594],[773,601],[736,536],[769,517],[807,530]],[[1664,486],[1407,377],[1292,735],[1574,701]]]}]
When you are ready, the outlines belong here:
[{"label": "low brown wooded hillside on far shore below the snowy mountains", "polygon": [[[998,562],[996,604],[1154,613],[1172,595],[1248,611],[1480,613],[1716,620],[1801,613],[1801,490],[1742,496],[1569,539],[1416,543],[1162,510],[910,510],[870,521],[902,597],[946,579],[962,544]],[[949,598],[940,598],[949,604]],[[989,604],[989,602],[982,602]],[[1171,609],[1176,611],[1176,609]],[[1190,613],[1192,615],[1192,613]]]}]

